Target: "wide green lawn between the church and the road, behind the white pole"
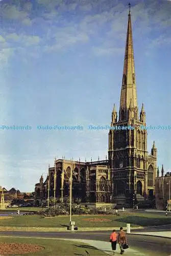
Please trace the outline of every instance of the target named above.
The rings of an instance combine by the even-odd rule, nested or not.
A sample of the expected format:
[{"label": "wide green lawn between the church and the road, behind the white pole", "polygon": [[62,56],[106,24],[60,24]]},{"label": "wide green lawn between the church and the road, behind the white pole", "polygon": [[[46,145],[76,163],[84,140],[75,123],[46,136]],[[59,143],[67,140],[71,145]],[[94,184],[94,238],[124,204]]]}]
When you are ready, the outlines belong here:
[{"label": "wide green lawn between the church and the road, behind the white pole", "polygon": [[[107,219],[109,221],[95,222],[89,219]],[[131,226],[155,226],[170,224],[171,216],[161,216],[151,213],[131,213],[120,212],[119,216],[112,215],[86,215],[72,216],[72,221],[76,222],[78,227],[126,227],[127,223]],[[42,218],[40,215],[14,216],[12,219],[0,219],[0,226],[13,227],[62,227],[69,224],[69,216],[60,216],[53,218]]]}]

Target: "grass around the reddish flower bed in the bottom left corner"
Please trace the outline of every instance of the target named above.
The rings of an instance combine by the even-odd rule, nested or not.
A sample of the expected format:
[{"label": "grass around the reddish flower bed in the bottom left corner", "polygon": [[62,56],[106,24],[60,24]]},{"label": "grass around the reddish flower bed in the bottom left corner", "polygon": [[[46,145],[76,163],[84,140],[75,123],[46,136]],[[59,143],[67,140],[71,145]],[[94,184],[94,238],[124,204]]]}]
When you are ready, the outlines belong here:
[{"label": "grass around the reddish flower bed in the bottom left corner", "polygon": [[[70,256],[70,255],[87,255],[85,250],[90,255],[103,256],[106,253],[84,243],[74,241],[64,241],[55,239],[40,239],[40,238],[12,238],[12,237],[1,237],[0,243],[28,243],[44,247],[44,249],[37,252],[27,253],[26,255],[59,255],[59,256]],[[1,254],[1,246],[0,246]],[[21,255],[21,254],[17,254]],[[25,254],[22,254],[25,255]]]}]

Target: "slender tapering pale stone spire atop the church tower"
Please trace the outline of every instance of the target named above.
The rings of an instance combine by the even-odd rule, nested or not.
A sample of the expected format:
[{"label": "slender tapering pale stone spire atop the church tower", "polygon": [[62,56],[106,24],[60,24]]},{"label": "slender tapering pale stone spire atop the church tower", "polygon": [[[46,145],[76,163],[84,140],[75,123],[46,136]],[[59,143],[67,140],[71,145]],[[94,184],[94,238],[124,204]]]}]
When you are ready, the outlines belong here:
[{"label": "slender tapering pale stone spire atop the church tower", "polygon": [[130,4],[129,4],[128,28],[127,28],[125,59],[124,59],[124,72],[123,72],[123,82],[122,82],[121,96],[120,96],[119,120],[124,120],[123,114],[121,114],[121,111],[125,112],[124,118],[127,119],[126,112],[129,109],[130,101],[132,101],[131,104],[133,108],[138,108],[136,83],[135,83],[131,10],[130,10]]}]

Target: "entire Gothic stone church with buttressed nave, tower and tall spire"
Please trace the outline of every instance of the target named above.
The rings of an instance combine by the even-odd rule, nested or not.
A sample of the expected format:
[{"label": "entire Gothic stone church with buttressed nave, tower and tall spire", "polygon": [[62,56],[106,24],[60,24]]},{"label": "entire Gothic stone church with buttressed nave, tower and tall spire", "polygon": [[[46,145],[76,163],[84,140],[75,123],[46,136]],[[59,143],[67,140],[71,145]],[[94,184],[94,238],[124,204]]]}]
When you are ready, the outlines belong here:
[{"label": "entire Gothic stone church with buttressed nave, tower and tall spire", "polygon": [[[69,177],[72,172],[72,197],[81,198],[84,203],[123,203],[153,198],[157,176],[157,149],[152,145],[147,152],[147,131],[145,111],[140,113],[137,103],[134,66],[131,13],[128,15],[128,29],[121,84],[120,108],[112,111],[109,131],[108,159],[96,162],[80,162],[55,159],[48,168],[45,181],[41,176],[35,185],[35,204],[55,197],[63,202],[69,195]],[[124,127],[124,128],[123,128]],[[133,127],[133,129],[129,129]]]}]

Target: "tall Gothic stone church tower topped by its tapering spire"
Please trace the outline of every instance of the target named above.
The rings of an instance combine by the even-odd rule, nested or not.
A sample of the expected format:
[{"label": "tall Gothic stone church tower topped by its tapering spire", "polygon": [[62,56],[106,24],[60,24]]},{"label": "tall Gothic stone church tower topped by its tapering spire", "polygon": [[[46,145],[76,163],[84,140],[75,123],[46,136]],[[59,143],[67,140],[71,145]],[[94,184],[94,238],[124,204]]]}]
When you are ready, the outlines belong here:
[{"label": "tall Gothic stone church tower topped by its tapering spire", "polygon": [[[115,127],[109,132],[111,201],[114,203],[130,204],[133,197],[143,200],[148,197],[150,189],[153,190],[151,194],[154,194],[157,150],[154,144],[152,155],[148,156],[147,132],[141,129],[141,125],[145,126],[145,112],[142,104],[140,114],[138,114],[131,12],[129,10],[118,118],[115,105],[112,111],[111,126],[117,126],[117,130]],[[123,126],[125,130],[122,130]],[[131,126],[134,129],[131,129]],[[149,159],[150,162],[148,162]],[[148,182],[149,177],[152,179],[151,183]]]}]

